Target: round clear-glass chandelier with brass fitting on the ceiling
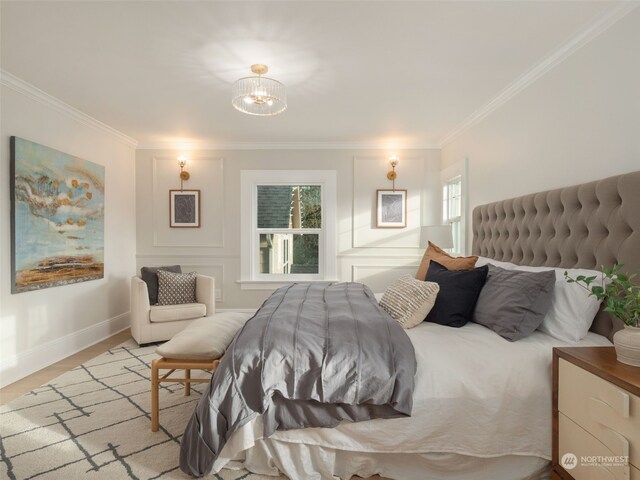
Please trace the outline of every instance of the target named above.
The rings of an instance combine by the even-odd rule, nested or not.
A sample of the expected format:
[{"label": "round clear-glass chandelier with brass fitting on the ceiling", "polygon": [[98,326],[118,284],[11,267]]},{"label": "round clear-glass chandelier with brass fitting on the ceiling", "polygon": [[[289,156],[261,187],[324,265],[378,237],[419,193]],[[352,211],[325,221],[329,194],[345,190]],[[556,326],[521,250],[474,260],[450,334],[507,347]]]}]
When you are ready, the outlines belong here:
[{"label": "round clear-glass chandelier with brass fitting on the ceiling", "polygon": [[287,109],[287,89],[272,78],[263,77],[269,71],[266,65],[251,65],[256,75],[244,77],[233,84],[231,103],[249,115],[277,115]]}]

